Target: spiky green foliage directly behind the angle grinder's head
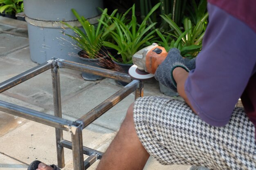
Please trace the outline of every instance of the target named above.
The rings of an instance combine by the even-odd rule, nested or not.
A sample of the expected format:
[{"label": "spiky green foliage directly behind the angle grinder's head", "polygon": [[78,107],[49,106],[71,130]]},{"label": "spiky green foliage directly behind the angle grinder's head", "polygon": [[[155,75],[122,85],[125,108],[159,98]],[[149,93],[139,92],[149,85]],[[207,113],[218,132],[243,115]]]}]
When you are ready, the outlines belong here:
[{"label": "spiky green foliage directly behind the angle grinder's head", "polygon": [[[150,15],[159,7],[160,3],[156,4],[146,15],[141,24],[137,23],[135,15],[135,5],[133,5],[128,11],[132,10],[131,20],[128,22],[122,22],[119,18],[109,16],[112,18],[112,24],[108,25],[105,22],[102,22],[106,29],[109,30],[109,33],[112,35],[112,38],[115,40],[115,43],[104,41],[103,45],[113,48],[118,51],[118,54],[121,55],[121,60],[118,60],[111,55],[112,59],[116,62],[121,62],[124,64],[132,63],[132,55],[144,47],[144,44],[153,38],[153,33],[155,30],[150,30],[156,23],[147,25],[147,20]],[[128,11],[124,16],[127,15]]]}]

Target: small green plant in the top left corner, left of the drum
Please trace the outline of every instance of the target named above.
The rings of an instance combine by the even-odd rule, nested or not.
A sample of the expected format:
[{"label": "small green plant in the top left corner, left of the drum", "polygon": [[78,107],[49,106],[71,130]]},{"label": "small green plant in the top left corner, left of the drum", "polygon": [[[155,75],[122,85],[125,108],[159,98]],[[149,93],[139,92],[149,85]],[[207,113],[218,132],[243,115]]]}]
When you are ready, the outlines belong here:
[{"label": "small green plant in the top left corner, left of the drum", "polygon": [[0,13],[12,14],[23,12],[23,0],[0,0]]}]

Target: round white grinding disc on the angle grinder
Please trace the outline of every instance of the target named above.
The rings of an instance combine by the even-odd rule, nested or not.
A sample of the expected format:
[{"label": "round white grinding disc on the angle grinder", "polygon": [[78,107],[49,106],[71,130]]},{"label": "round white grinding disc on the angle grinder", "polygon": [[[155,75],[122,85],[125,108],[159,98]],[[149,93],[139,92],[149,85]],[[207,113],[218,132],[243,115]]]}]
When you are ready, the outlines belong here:
[{"label": "round white grinding disc on the angle grinder", "polygon": [[134,64],[129,68],[128,74],[134,78],[134,79],[150,79],[151,77],[154,77],[155,75],[140,71],[137,66]]}]

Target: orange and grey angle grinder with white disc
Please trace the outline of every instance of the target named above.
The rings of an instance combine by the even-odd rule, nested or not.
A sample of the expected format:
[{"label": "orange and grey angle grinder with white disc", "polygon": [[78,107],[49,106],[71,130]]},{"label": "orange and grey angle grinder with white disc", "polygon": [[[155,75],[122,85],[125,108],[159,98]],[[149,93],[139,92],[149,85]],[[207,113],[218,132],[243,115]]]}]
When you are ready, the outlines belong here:
[{"label": "orange and grey angle grinder with white disc", "polygon": [[132,56],[132,65],[129,68],[128,74],[133,79],[149,79],[154,77],[155,71],[167,56],[164,47],[153,43],[150,46],[141,49]]}]

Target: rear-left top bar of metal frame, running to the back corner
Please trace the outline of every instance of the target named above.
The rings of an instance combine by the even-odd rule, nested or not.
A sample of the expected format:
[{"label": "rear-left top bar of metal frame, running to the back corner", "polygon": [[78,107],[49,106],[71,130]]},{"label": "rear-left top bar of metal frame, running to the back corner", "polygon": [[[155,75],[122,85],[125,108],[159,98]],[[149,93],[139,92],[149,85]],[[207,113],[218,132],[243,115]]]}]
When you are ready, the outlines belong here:
[{"label": "rear-left top bar of metal frame, running to the back corner", "polygon": [[12,88],[13,86],[16,86],[22,82],[25,82],[26,80],[35,77],[36,75],[43,73],[44,71],[49,70],[52,68],[52,62],[54,60],[49,60],[43,64],[40,64],[39,66],[36,66],[34,68],[29,69],[28,71],[25,71],[19,75],[16,75],[15,77],[12,77],[2,83],[0,83],[0,93],[8,90],[9,88]]}]

